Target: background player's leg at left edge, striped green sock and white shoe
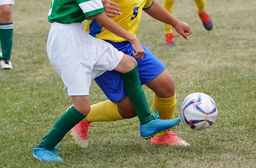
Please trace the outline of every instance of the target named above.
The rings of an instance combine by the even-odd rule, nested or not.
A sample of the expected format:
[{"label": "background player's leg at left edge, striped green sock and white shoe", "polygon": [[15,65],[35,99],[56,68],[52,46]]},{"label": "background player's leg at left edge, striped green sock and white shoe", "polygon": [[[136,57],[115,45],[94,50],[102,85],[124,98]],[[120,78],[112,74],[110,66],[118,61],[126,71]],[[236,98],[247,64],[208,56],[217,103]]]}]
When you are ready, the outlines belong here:
[{"label": "background player's leg at left edge, striped green sock and white shoe", "polygon": [[12,10],[11,5],[0,6],[0,40],[2,48],[2,58],[0,61],[1,69],[12,69],[10,62],[12,52]]}]

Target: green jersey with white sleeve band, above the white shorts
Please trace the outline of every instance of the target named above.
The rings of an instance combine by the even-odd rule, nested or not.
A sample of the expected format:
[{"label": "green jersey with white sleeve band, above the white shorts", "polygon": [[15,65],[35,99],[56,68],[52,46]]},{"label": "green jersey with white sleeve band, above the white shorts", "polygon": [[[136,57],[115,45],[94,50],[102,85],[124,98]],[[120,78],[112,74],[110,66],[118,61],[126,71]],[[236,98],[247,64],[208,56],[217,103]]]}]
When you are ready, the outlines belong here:
[{"label": "green jersey with white sleeve band, above the white shorts", "polygon": [[50,23],[81,23],[86,17],[105,12],[101,0],[52,0]]}]

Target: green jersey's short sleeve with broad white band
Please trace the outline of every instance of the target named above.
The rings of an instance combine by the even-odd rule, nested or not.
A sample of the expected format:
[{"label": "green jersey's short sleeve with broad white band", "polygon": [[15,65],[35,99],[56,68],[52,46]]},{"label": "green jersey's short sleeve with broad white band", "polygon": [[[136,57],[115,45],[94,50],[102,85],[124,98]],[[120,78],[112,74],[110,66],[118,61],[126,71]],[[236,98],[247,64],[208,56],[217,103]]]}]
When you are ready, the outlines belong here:
[{"label": "green jersey's short sleeve with broad white band", "polygon": [[105,12],[101,0],[76,0],[85,17]]}]

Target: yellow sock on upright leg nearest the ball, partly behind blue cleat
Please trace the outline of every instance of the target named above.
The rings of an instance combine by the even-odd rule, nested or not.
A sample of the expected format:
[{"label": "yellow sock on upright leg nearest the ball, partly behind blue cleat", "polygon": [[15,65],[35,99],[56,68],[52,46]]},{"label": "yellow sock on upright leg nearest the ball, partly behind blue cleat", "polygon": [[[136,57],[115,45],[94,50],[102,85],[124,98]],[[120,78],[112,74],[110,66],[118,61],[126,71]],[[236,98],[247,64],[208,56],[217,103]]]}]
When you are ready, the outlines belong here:
[{"label": "yellow sock on upright leg nearest the ball, partly behind blue cleat", "polygon": [[[153,100],[153,110],[157,110],[160,119],[173,119],[176,107],[176,93],[171,98],[160,98],[156,94]],[[164,136],[165,133],[157,133],[156,136]]]}]

